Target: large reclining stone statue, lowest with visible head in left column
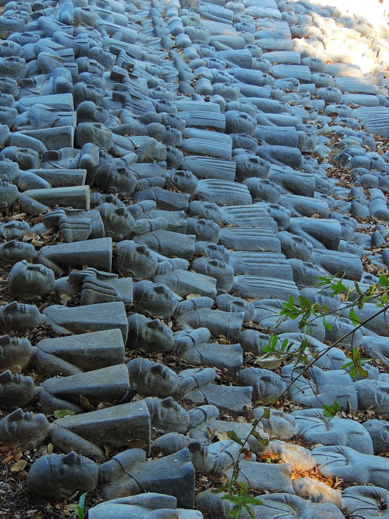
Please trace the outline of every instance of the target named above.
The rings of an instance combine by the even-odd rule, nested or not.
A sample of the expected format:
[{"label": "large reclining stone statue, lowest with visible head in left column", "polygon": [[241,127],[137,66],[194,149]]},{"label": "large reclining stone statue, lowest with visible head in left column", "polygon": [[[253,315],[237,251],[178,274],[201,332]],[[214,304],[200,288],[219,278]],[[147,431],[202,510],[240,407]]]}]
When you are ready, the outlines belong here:
[{"label": "large reclining stone statue, lowest with visible head in left column", "polygon": [[[44,484],[43,484],[44,482]],[[48,454],[38,458],[27,476],[27,488],[40,497],[64,499],[76,489],[103,488],[105,499],[134,496],[157,490],[177,499],[180,506],[193,507],[195,469],[189,450],[146,461],[141,449],[129,449],[98,466],[75,452]]]}]

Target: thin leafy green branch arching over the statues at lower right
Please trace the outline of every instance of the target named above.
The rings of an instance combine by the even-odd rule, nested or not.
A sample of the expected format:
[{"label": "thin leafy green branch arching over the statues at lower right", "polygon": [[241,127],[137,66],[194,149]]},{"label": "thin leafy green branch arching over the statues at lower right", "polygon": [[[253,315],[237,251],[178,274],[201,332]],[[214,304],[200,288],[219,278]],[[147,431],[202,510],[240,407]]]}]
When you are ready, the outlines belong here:
[{"label": "thin leafy green branch arching over the statues at lower right", "polygon": [[[308,370],[311,368],[319,359],[324,357],[332,348],[336,348],[340,345],[344,339],[354,336],[355,332],[362,328],[365,324],[372,321],[376,317],[380,316],[382,313],[386,312],[389,309],[388,304],[388,295],[389,295],[389,279],[382,275],[379,278],[379,283],[371,285],[369,289],[365,292],[360,290],[360,286],[358,283],[354,282],[354,287],[351,285],[349,288],[342,282],[342,279],[336,278],[336,276],[332,276],[331,278],[319,278],[319,283],[317,286],[322,286],[323,288],[329,288],[331,290],[330,297],[334,297],[336,295],[343,294],[344,296],[344,307],[349,308],[349,318],[352,323],[355,325],[354,329],[342,335],[338,338],[332,345],[325,348],[319,354],[312,356],[311,360],[308,360],[308,357],[305,355],[304,350],[307,347],[307,340],[305,339],[305,334],[308,330],[311,330],[312,323],[315,319],[322,318],[323,325],[327,330],[332,329],[332,325],[325,320],[327,315],[337,314],[336,311],[330,310],[327,306],[320,306],[318,303],[311,303],[307,297],[299,296],[299,306],[297,306],[294,302],[292,296],[289,296],[288,301],[284,302],[284,308],[280,312],[280,319],[276,322],[275,327],[279,326],[285,319],[289,318],[292,320],[300,318],[300,322],[298,324],[299,330],[303,331],[303,339],[301,340],[301,344],[298,350],[298,360],[297,362],[303,361],[303,368],[299,374],[295,377],[291,377],[290,382],[286,386],[286,388],[264,409],[261,416],[254,419],[252,421],[252,427],[248,432],[246,438],[242,441],[237,433],[234,431],[228,431],[227,434],[231,440],[239,443],[241,445],[239,455],[234,463],[232,476],[230,481],[220,486],[217,489],[212,490],[213,493],[221,493],[225,492],[225,495],[221,497],[221,499],[225,499],[230,501],[233,504],[229,515],[234,519],[238,519],[241,515],[242,509],[244,508],[250,517],[254,519],[254,513],[251,510],[250,506],[257,506],[263,504],[259,499],[253,498],[248,495],[248,487],[247,485],[238,482],[239,477],[239,462],[242,458],[250,458],[251,451],[247,448],[248,440],[251,436],[254,436],[259,442],[262,444],[268,445],[269,441],[266,439],[262,439],[258,432],[255,430],[258,426],[259,422],[262,418],[270,418],[270,410],[274,406],[275,402],[280,400],[289,389],[296,383],[298,379],[301,377],[309,379]],[[345,295],[344,295],[345,294]],[[350,297],[357,296],[354,301],[350,302]],[[374,300],[376,302],[377,307],[379,309],[377,312],[373,313],[370,317],[365,319],[364,321],[360,321],[356,315],[354,307],[358,309],[362,309],[364,304]],[[341,314],[340,314],[341,315]],[[342,316],[343,317],[343,316]],[[282,358],[285,360],[290,354],[295,354],[294,352],[290,352],[290,347],[293,343],[289,343],[288,339],[284,339],[281,346],[277,348],[279,344],[279,340],[276,334],[270,336],[268,346],[263,348],[264,355],[262,357],[258,357],[257,360],[262,360],[268,357],[269,355],[275,356],[277,358]],[[351,348],[351,351],[346,352],[346,357],[350,359],[349,362],[346,362],[342,368],[350,368],[350,376],[354,378],[357,375],[362,377],[366,377],[368,375],[367,371],[363,368],[363,363],[367,362],[369,359],[363,359],[361,351],[358,348]],[[332,404],[322,404],[323,405],[323,415],[329,419],[334,417],[340,411],[340,404],[334,400]]]}]

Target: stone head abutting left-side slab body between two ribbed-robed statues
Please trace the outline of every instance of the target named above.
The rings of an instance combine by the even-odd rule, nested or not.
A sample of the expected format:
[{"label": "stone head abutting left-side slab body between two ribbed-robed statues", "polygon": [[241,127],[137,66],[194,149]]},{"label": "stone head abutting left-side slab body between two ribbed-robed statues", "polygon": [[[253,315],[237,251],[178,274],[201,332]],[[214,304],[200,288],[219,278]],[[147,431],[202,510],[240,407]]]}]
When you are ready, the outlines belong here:
[{"label": "stone head abutting left-side slab body between two ribbed-robed statues", "polygon": [[146,245],[124,240],[116,244],[115,265],[121,275],[140,281],[154,278],[158,259]]}]

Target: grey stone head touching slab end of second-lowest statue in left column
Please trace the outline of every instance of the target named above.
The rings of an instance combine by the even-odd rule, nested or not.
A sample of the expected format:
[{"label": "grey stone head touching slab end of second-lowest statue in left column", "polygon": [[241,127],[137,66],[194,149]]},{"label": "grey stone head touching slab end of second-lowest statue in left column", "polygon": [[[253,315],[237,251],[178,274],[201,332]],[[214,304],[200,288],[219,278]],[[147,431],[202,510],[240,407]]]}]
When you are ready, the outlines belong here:
[{"label": "grey stone head touching slab end of second-lowest statue in left column", "polygon": [[151,427],[158,432],[186,432],[189,429],[189,415],[172,397],[160,400],[156,397],[145,399],[151,416]]}]

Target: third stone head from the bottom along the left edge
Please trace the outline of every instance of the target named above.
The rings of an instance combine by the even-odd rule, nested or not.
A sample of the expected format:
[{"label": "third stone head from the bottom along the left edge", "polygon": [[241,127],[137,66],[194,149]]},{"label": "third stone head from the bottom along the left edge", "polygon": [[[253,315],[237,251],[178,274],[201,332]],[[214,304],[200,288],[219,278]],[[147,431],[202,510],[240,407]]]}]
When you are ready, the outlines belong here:
[{"label": "third stone head from the bottom along the left edge", "polygon": [[0,374],[0,407],[5,409],[26,407],[37,393],[38,389],[31,377],[12,375],[9,370]]}]

